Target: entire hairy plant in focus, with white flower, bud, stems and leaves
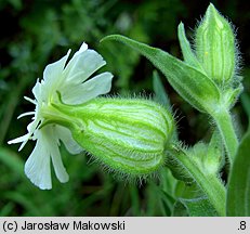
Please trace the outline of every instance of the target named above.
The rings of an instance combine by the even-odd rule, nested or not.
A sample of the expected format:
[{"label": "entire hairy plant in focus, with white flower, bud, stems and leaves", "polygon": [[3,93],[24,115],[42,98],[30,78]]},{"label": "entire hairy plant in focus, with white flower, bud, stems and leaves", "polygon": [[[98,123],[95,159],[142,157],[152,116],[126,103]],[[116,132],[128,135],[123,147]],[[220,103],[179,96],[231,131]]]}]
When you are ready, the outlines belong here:
[{"label": "entire hairy plant in focus, with white flower, bud, stems and leaves", "polygon": [[[196,29],[193,49],[181,23],[184,61],[123,36],[103,39],[108,40],[123,42],[146,56],[185,101],[209,116],[214,128],[209,143],[187,147],[179,140],[170,101],[156,72],[154,87],[160,104],[144,99],[96,98],[110,90],[113,76],[104,73],[85,81],[105,62],[83,43],[67,65],[68,54],[47,66],[43,79],[32,90],[36,100],[27,98],[36,104],[36,110],[28,113],[35,115],[28,133],[10,142],[23,142],[22,148],[28,140],[37,140],[25,164],[31,182],[51,188],[51,159],[58,180],[68,181],[58,151],[62,141],[68,152],[84,150],[121,178],[141,181],[159,174],[160,185],[154,191],[166,206],[165,214],[249,216],[245,186],[249,182],[245,164],[249,133],[239,144],[231,116],[242,91],[231,24],[210,4]],[[227,172],[228,179],[222,178],[222,172]],[[135,213],[136,204],[134,199]]]}]

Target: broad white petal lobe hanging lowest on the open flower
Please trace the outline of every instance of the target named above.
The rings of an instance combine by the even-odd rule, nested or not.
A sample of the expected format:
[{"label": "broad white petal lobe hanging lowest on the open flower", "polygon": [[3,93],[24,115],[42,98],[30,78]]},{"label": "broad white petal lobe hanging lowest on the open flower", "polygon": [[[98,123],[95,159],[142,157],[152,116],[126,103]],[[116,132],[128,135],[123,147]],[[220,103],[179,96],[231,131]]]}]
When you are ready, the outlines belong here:
[{"label": "broad white petal lobe hanging lowest on the open flower", "polygon": [[51,190],[51,166],[48,142],[38,133],[37,144],[25,164],[25,173],[41,190]]}]

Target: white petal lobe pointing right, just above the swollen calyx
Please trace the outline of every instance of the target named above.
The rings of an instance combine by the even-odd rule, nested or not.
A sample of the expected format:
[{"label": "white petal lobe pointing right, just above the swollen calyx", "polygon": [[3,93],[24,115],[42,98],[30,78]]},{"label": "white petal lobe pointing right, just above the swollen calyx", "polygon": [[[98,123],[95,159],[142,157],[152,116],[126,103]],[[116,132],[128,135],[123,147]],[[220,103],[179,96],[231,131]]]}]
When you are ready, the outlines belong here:
[{"label": "white petal lobe pointing right, just above the swollen calyx", "polygon": [[81,84],[71,84],[62,90],[63,101],[66,104],[81,104],[97,95],[110,91],[113,75],[100,74]]}]

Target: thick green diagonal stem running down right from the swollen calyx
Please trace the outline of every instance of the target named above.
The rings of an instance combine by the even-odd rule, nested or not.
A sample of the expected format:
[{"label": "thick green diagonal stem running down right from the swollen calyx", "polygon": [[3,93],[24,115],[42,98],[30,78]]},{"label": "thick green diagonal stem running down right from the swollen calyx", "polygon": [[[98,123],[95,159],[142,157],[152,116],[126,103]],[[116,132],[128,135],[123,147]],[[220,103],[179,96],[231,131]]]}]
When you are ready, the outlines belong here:
[{"label": "thick green diagonal stem running down right from the swollen calyx", "polygon": [[167,154],[171,154],[188,171],[218,214],[224,217],[226,214],[226,190],[220,179],[215,174],[207,174],[200,170],[198,165],[183,150],[173,147]]}]

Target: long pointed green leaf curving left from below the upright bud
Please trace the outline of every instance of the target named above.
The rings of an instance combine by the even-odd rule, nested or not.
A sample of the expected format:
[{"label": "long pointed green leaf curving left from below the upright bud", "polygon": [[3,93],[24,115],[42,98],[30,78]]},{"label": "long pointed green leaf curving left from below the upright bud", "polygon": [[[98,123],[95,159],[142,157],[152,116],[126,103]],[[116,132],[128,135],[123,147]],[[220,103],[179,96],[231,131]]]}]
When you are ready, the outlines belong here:
[{"label": "long pointed green leaf curving left from below the upright bud", "polygon": [[195,67],[171,54],[120,35],[105,37],[102,41],[120,41],[147,57],[167,77],[170,84],[190,105],[202,113],[213,113],[220,103],[216,84]]}]

